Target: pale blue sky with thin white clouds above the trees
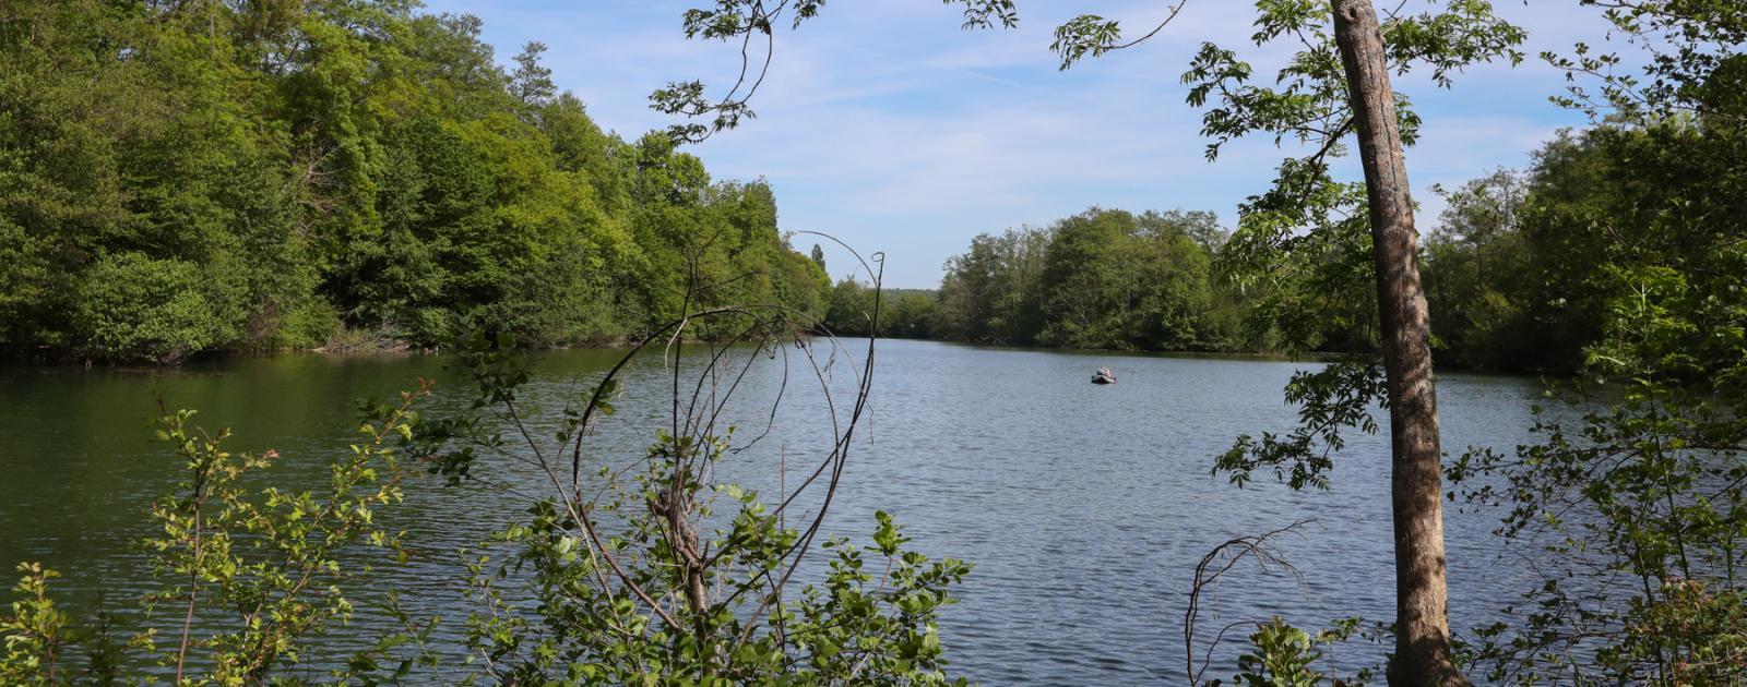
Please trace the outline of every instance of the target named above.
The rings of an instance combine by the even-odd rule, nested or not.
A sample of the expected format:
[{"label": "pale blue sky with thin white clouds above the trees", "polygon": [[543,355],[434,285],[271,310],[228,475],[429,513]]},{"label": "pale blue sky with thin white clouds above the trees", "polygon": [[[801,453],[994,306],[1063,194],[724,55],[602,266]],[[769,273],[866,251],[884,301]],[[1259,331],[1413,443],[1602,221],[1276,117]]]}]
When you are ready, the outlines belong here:
[{"label": "pale blue sky with thin white clouds above the trees", "polygon": [[[1576,0],[1495,0],[1529,30],[1525,52],[1602,42],[1605,23]],[[648,108],[669,80],[725,85],[739,52],[688,42],[687,7],[704,0],[426,0],[430,12],[475,14],[508,63],[528,40],[549,45],[547,66],[603,127],[625,138],[673,124]],[[1286,54],[1251,47],[1247,2],[1191,0],[1157,38],[1057,71],[1050,31],[1080,12],[1143,26],[1164,0],[1032,0],[1019,30],[961,31],[940,0],[837,0],[798,31],[777,35],[758,119],[692,152],[716,178],[765,178],[783,230],[828,232],[863,253],[884,251],[886,284],[931,288],[942,263],[982,232],[1046,225],[1088,206],[1207,209],[1226,225],[1265,188],[1293,150],[1272,139],[1230,145],[1204,159],[1200,113],[1183,103],[1179,75],[1204,40],[1240,49],[1260,73]],[[1488,65],[1450,91],[1398,80],[1424,117],[1408,173],[1436,223],[1431,187],[1522,167],[1529,153],[1583,115],[1548,103],[1565,77],[1539,59]],[[1356,176],[1356,167],[1349,166]],[[800,249],[811,237],[797,237]],[[849,258],[828,249],[833,277]]]}]

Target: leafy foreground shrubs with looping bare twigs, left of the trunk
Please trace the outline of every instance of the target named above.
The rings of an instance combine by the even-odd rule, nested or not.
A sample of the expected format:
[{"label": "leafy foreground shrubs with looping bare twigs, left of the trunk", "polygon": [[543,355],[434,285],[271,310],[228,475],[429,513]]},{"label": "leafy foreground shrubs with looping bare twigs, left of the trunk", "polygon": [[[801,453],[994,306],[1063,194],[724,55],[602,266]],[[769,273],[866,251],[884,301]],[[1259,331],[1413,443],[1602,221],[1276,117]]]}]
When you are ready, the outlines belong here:
[{"label": "leafy foreground shrubs with looping bare twigs, left of the trunk", "polygon": [[[765,340],[744,363],[811,356],[786,345],[802,342],[798,331]],[[512,345],[508,337],[466,342],[461,359],[480,396],[461,417],[419,415],[430,382],[397,405],[365,405],[360,439],[330,462],[321,488],[274,486],[276,452],[234,453],[227,431],[164,410],[157,438],[175,446],[187,478],[152,506],[162,534],[145,544],[162,588],[143,600],[143,626],[122,636],[108,621],[82,624],[51,596],[56,572],[24,563],[19,600],[0,617],[0,684],[369,685],[438,668],[468,684],[963,684],[945,673],[936,616],[970,565],[907,551],[908,537],[886,513],[865,546],[814,546],[825,513],[816,502],[807,514],[783,514],[809,485],[811,497],[837,488],[847,431],[818,480],[770,507],[709,481],[734,431],[718,432],[720,406],[699,399],[699,415],[676,415],[678,436],[657,431],[643,455],[599,460],[599,480],[583,486],[583,438],[611,413],[618,370],[578,394],[556,432],[535,434],[519,401],[528,368]],[[701,380],[718,378],[727,357],[711,356]],[[430,643],[437,617],[411,617],[393,591],[372,586],[372,572],[405,563],[414,544],[383,525],[383,513],[421,471],[494,485],[477,457],[517,455],[503,432],[524,443],[521,457],[543,467],[552,492],[468,554],[465,652],[438,650]],[[577,462],[561,466],[566,452]],[[728,504],[723,518],[713,516],[716,497]],[[797,574],[809,551],[830,556],[823,574]],[[379,638],[328,633],[363,617],[386,628]]]}]

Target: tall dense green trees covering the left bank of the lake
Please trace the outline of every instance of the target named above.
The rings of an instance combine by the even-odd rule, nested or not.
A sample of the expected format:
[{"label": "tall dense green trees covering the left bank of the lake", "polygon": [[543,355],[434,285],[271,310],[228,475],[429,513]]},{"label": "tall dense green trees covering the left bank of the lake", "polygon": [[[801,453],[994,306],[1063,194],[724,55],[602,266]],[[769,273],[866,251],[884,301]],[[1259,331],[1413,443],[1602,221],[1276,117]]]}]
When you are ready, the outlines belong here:
[{"label": "tall dense green trees covering the left bank of the lake", "polygon": [[767,185],[603,133],[543,45],[505,71],[477,19],[414,9],[7,3],[0,350],[432,345],[456,316],[606,342],[676,317],[692,284],[825,312]]}]

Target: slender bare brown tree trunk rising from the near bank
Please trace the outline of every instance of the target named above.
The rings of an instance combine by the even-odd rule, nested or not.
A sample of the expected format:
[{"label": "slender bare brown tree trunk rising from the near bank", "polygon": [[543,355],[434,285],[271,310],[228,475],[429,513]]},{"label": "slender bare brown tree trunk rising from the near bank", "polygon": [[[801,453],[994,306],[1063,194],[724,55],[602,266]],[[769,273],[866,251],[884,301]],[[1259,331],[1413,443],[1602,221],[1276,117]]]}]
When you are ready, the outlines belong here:
[{"label": "slender bare brown tree trunk rising from the near bank", "polygon": [[1413,199],[1384,35],[1370,0],[1333,3],[1335,40],[1347,68],[1371,211],[1377,309],[1384,324],[1384,371],[1389,382],[1396,527],[1396,656],[1389,663],[1389,684],[1467,685],[1450,659],[1431,317],[1420,286]]}]

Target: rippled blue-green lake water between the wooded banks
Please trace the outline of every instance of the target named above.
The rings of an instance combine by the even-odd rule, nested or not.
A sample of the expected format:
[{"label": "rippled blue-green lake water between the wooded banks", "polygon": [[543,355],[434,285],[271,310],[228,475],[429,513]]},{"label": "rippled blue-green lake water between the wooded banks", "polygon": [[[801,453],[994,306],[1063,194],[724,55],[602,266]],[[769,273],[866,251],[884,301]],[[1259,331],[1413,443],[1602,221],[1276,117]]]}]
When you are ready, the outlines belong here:
[{"label": "rippled blue-green lake water between the wooded banks", "polygon": [[[536,420],[556,399],[597,378],[617,350],[538,354]],[[1195,563],[1237,535],[1315,518],[1281,549],[1305,574],[1247,572],[1205,602],[1202,628],[1284,616],[1305,626],[1394,614],[1387,436],[1356,436],[1338,455],[1331,492],[1295,493],[1272,478],[1239,490],[1209,474],[1237,434],[1281,431],[1295,410],[1281,387],[1312,364],[1258,359],[994,350],[931,342],[880,342],[872,415],[858,434],[832,534],[872,532],[872,513],[898,516],[912,546],[975,563],[947,609],[943,640],[954,673],[982,684],[1181,684],[1183,610]],[[40,560],[65,574],[75,609],[133,605],[152,588],[135,542],[150,534],[150,499],[175,488],[178,459],[150,443],[155,398],[199,408],[206,427],[232,427],[236,450],[274,448],[285,480],[320,474],[344,452],[353,399],[390,398],[419,377],[438,380],[428,412],[466,401],[444,356],[231,357],[164,370],[0,368],[0,561]],[[847,361],[830,370],[842,391]],[[1109,366],[1116,385],[1092,385]],[[791,368],[793,371],[793,368]],[[620,413],[603,427],[603,460],[634,457],[664,410],[659,357],[627,377]],[[776,431],[723,462],[727,480],[763,486],[828,445],[816,394],[790,380]],[[753,366],[737,420],[763,429],[783,364]],[[1443,441],[1511,448],[1529,441],[1532,378],[1440,377]],[[538,485],[514,464],[482,466]],[[397,527],[421,542],[409,568],[388,570],[414,612],[459,629],[456,546],[515,520],[522,500],[482,486],[409,486]],[[1501,544],[1495,513],[1447,507],[1450,609],[1455,628],[1495,619],[1522,589]],[[362,622],[369,626],[369,622]],[[363,631],[355,628],[355,631]],[[1242,635],[1242,633],[1239,633]],[[1237,636],[1240,640],[1240,636]],[[1235,643],[1232,645],[1235,647]],[[1356,649],[1338,664],[1377,659]],[[1207,677],[1230,677],[1216,664]],[[438,677],[433,677],[437,680]]]}]

